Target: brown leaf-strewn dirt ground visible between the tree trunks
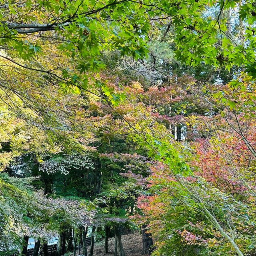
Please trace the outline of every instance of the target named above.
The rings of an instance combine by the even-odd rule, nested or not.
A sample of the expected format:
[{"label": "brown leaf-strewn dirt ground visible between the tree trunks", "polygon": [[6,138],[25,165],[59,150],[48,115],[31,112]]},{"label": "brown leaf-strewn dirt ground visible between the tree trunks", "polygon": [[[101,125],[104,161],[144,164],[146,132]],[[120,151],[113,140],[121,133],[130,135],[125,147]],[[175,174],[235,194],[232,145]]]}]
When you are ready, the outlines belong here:
[{"label": "brown leaf-strewn dirt ground visible between the tree trunks", "polygon": [[[145,254],[141,254],[142,236],[139,232],[123,235],[122,244],[123,244],[124,252],[126,256],[146,256]],[[93,255],[94,256],[103,256],[103,255],[111,256],[114,254],[114,245],[115,245],[115,238],[110,238],[108,240],[108,254],[104,254],[104,241],[95,243]],[[80,254],[82,254],[82,249],[80,249]],[[76,255],[79,255],[78,251]],[[88,250],[88,255],[89,255],[89,250]]]}]

